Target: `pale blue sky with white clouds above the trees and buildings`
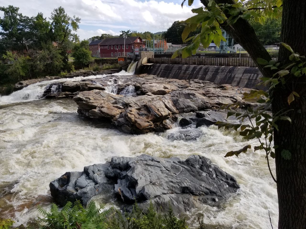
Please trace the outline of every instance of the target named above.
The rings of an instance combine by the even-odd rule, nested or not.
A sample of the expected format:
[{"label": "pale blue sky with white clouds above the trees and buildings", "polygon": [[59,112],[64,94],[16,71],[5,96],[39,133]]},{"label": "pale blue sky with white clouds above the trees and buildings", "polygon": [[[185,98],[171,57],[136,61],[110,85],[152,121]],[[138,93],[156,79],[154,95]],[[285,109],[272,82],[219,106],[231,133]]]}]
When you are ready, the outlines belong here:
[{"label": "pale blue sky with white clouds above the trees and buildings", "polygon": [[42,12],[49,18],[54,8],[62,6],[69,16],[81,18],[76,32],[80,39],[103,33],[119,35],[121,30],[166,31],[174,21],[192,16],[192,8],[201,6],[199,0],[195,0],[192,6],[188,6],[186,1],[183,8],[181,3],[182,0],[0,0],[0,6],[17,6],[26,16]]}]

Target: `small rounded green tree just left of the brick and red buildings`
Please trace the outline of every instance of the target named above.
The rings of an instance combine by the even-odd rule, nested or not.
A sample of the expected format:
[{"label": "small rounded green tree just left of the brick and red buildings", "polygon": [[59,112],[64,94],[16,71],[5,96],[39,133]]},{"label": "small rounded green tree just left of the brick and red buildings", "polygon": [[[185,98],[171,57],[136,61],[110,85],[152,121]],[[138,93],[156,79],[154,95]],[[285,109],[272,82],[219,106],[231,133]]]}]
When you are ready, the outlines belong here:
[{"label": "small rounded green tree just left of the brick and red buildings", "polygon": [[76,44],[72,49],[74,57],[73,64],[78,67],[85,67],[91,61],[91,51],[89,50],[89,42],[83,40]]}]

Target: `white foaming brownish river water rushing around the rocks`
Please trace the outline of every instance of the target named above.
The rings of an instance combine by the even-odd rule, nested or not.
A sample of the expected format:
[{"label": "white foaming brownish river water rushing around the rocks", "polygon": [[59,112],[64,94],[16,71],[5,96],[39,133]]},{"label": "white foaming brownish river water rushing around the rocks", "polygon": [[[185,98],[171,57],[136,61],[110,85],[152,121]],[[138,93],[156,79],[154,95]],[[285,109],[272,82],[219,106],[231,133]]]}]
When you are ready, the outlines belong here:
[{"label": "white foaming brownish river water rushing around the rocks", "polygon": [[[38,216],[37,205],[49,208],[50,181],[67,171],[104,163],[112,156],[150,154],[185,159],[200,154],[236,177],[241,189],[219,209],[203,205],[191,211],[191,224],[203,212],[205,223],[211,227],[266,229],[271,227],[270,210],[277,228],[276,185],[264,153],[250,151],[239,158],[223,157],[246,144],[237,133],[210,126],[190,129],[198,132],[196,140],[179,140],[178,127],[161,134],[124,134],[111,125],[80,117],[71,99],[39,100],[39,94],[51,82],[59,80],[39,82],[0,97],[0,129],[6,131],[0,133],[0,217],[13,218],[15,225],[27,223]],[[115,85],[114,81],[110,85]],[[124,93],[133,93],[133,86],[126,87]]]}]

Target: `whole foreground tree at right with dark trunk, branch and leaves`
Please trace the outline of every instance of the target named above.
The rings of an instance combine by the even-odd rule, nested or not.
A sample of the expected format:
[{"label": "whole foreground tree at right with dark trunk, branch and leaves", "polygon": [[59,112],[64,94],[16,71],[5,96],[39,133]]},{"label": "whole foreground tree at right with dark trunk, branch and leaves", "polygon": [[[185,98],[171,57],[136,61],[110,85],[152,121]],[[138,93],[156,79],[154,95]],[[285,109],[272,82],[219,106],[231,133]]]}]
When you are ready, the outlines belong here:
[{"label": "whole foreground tree at right with dark trunk, branch and leaves", "polygon": [[[185,2],[185,1],[184,1]],[[184,3],[183,2],[183,3]],[[256,62],[263,74],[264,83],[271,87],[267,92],[253,90],[245,99],[257,98],[263,106],[249,108],[238,117],[256,118],[255,126],[241,125],[240,135],[246,139],[263,136],[267,141],[274,139],[275,147],[260,142],[254,150],[266,151],[267,162],[275,158],[279,207],[279,229],[302,229],[306,225],[306,2],[304,0],[201,0],[205,9],[193,9],[195,16],[187,19],[182,39],[201,27],[201,32],[191,37],[192,44],[174,54],[189,56],[199,46],[207,47],[214,40],[216,45],[224,39],[221,27],[225,29]],[[191,5],[193,1],[188,1]],[[271,60],[261,44],[250,20],[263,24],[267,17],[282,16],[281,45],[277,62]],[[296,53],[298,52],[298,53]],[[236,104],[237,106],[237,104]],[[228,105],[230,107],[230,104]],[[267,114],[272,110],[272,115]],[[284,114],[286,116],[280,116]],[[251,115],[251,116],[250,116]],[[291,121],[291,122],[288,122]],[[221,124],[220,124],[221,125]],[[229,127],[229,126],[228,126]],[[237,130],[239,126],[232,126]],[[273,133],[273,135],[272,135]],[[268,139],[267,139],[268,137]],[[239,151],[228,152],[226,156],[246,152],[250,146]]]}]

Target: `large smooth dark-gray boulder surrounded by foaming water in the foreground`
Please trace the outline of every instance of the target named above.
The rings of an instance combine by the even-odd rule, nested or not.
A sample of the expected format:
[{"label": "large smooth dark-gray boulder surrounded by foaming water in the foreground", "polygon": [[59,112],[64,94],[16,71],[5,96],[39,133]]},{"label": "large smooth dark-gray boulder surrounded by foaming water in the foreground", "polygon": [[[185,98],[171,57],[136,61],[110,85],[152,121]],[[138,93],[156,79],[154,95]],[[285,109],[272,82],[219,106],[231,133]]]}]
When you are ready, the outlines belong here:
[{"label": "large smooth dark-gray boulder surrounded by foaming water in the foreground", "polygon": [[157,158],[113,157],[104,164],[84,167],[83,172],[67,172],[50,183],[54,200],[65,205],[76,199],[86,205],[96,195],[114,194],[125,206],[138,202],[147,207],[150,200],[159,209],[173,205],[184,213],[200,204],[218,206],[237,191],[236,179],[203,156]]}]

